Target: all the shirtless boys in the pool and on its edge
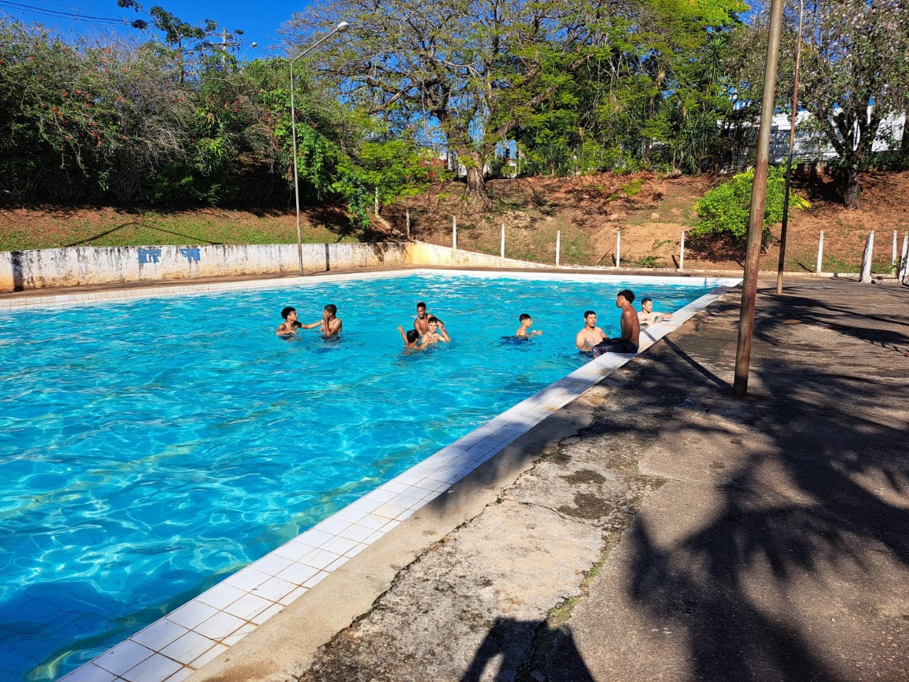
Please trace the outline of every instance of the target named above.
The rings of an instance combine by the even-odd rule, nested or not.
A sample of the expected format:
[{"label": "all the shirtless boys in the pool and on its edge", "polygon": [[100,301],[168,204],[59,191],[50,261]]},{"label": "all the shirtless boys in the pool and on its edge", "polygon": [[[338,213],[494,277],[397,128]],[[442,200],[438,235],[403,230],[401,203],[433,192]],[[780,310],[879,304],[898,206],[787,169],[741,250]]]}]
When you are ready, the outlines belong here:
[{"label": "all the shirtless boys in the pool and on its edge", "polygon": [[[616,338],[606,336],[603,329],[596,326],[596,313],[593,310],[584,311],[584,328],[574,337],[574,346],[584,353],[591,353],[594,357],[604,353],[637,353],[641,329],[656,325],[663,320],[672,319],[668,313],[654,312],[654,301],[644,298],[641,301],[641,311],[638,312],[632,305],[634,292],[623,289],[615,295],[615,306],[622,310],[619,325],[622,335]],[[344,324],[337,317],[337,306],[329,304],[323,310],[322,319],[311,324],[303,324],[297,320],[296,310],[287,306],[281,311],[284,322],[278,326],[275,334],[282,338],[296,336],[297,329],[316,329],[322,332],[325,338],[333,338],[341,334]],[[534,320],[526,313],[518,318],[520,325],[514,332],[514,338],[530,338],[543,334],[542,331],[532,329]],[[426,304],[420,301],[416,304],[416,317],[414,328],[405,331],[403,326],[398,326],[405,348],[423,350],[428,346],[440,342],[451,341],[445,324],[435,315],[426,312]]]}]

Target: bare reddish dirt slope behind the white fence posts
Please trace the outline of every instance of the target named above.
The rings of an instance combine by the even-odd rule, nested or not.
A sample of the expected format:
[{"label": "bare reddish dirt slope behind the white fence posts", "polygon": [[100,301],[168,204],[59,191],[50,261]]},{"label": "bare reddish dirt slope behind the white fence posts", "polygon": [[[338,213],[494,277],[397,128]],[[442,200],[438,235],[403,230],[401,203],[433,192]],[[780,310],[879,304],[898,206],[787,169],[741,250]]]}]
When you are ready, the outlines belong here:
[{"label": "bare reddish dirt slope behind the white fence posts", "polygon": [[[682,232],[697,222],[694,203],[727,176],[665,177],[654,173],[601,174],[570,178],[534,177],[488,183],[493,208],[480,213],[464,203],[463,186],[449,183],[385,209],[385,218],[401,231],[405,209],[411,235],[450,245],[452,218],[457,218],[458,246],[498,254],[505,230],[505,255],[553,261],[556,232],[561,236],[561,262],[567,265],[615,265],[617,234],[625,266],[677,267]],[[833,178],[824,174],[794,176],[796,192],[812,206],[793,213],[786,240],[786,269],[814,272],[818,237],[824,230],[824,270],[856,270],[864,241],[875,230],[875,269],[890,264],[893,231],[909,230],[904,197],[909,172],[868,173],[861,178],[862,207],[844,209]],[[779,237],[780,226],[774,227]],[[742,254],[724,245],[696,245],[690,237],[686,268],[738,269]],[[779,246],[762,256],[761,266],[775,270]]]}]

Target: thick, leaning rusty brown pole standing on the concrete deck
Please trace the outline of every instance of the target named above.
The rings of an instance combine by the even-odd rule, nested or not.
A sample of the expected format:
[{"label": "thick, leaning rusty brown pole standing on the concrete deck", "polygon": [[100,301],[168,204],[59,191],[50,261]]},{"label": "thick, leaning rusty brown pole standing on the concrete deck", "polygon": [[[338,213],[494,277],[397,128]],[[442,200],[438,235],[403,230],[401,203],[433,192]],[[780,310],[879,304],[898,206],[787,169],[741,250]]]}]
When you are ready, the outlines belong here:
[{"label": "thick, leaning rusty brown pole standing on the concrete deck", "polygon": [[761,237],[764,232],[764,202],[767,198],[767,164],[770,157],[770,126],[774,118],[776,63],[780,53],[780,29],[783,24],[783,0],[770,6],[770,37],[764,66],[764,98],[761,103],[761,125],[757,134],[757,163],[751,189],[751,217],[748,223],[748,246],[742,281],[742,306],[739,311],[738,346],[735,349],[733,395],[748,394],[748,367],[751,363],[751,340],[754,335],[754,302],[757,298],[757,272],[760,266]]}]

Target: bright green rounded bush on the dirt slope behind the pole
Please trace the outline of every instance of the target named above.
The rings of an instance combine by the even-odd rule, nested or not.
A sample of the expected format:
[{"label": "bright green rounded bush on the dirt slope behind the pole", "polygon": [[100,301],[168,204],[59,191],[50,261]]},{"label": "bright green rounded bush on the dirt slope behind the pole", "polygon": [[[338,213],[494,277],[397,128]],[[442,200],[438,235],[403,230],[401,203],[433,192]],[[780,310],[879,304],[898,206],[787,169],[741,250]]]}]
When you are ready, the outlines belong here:
[{"label": "bright green rounded bush on the dirt slope behind the pole", "polygon": [[[751,189],[754,184],[754,169],[733,176],[723,185],[715,187],[702,196],[694,205],[697,216],[701,219],[691,230],[694,236],[725,236],[736,245],[742,245],[748,238],[748,221],[751,213]],[[764,204],[764,235],[762,241],[770,236],[770,226],[783,220],[783,196],[785,176],[783,168],[771,167],[767,170],[767,196]],[[808,208],[811,206],[791,189],[789,192],[790,208]]]}]

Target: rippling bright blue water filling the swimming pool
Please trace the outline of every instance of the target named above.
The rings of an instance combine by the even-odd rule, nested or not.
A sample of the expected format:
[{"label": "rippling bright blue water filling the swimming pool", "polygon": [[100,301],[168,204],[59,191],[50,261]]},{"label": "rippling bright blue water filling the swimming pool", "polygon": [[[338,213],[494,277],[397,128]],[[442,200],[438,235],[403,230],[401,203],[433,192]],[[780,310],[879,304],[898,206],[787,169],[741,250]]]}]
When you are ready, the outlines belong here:
[{"label": "rippling bright blue water filling the swimming pool", "polygon": [[[406,276],[0,316],[0,680],[63,675],[568,374],[621,288]],[[418,300],[454,340],[405,355]],[[329,302],[339,343],[275,336]],[[544,335],[503,343],[523,312]]]}]

